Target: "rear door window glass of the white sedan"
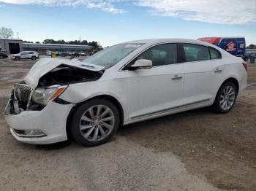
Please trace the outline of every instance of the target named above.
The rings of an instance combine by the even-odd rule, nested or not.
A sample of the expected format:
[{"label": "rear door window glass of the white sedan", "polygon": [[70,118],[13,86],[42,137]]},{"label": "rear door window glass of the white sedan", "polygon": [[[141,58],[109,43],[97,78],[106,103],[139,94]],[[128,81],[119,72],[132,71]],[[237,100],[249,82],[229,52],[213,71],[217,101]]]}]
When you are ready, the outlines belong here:
[{"label": "rear door window glass of the white sedan", "polygon": [[197,44],[182,44],[187,62],[210,60],[208,47]]}]

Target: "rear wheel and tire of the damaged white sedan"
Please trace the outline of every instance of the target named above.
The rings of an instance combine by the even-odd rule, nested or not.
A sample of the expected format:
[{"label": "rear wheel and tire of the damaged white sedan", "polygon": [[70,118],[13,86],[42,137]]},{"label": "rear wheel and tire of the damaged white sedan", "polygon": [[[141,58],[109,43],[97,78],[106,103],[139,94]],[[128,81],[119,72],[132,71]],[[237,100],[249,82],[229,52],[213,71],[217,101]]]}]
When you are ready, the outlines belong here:
[{"label": "rear wheel and tire of the damaged white sedan", "polygon": [[213,109],[220,114],[230,112],[230,110],[236,104],[236,97],[236,85],[234,85],[233,82],[225,82],[221,87],[219,87],[213,104]]}]

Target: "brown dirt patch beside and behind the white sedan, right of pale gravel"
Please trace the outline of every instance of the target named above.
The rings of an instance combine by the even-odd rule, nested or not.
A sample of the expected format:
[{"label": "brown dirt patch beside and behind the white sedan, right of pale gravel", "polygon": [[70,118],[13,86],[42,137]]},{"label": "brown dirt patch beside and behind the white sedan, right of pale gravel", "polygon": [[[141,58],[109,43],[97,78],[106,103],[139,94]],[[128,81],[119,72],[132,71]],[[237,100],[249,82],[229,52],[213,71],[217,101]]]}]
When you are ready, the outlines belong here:
[{"label": "brown dirt patch beside and behind the white sedan, right of pale gravel", "polygon": [[133,124],[119,133],[155,152],[173,152],[192,174],[225,190],[256,190],[256,66],[228,114],[196,109]]}]

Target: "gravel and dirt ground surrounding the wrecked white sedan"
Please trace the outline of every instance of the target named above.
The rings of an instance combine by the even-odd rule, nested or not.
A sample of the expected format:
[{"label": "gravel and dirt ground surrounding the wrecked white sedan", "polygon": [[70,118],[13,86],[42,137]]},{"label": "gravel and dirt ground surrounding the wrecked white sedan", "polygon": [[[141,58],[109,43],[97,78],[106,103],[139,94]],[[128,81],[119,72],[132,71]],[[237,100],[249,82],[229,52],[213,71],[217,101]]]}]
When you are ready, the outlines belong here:
[{"label": "gravel and dirt ground surrounding the wrecked white sedan", "polygon": [[255,65],[228,114],[173,114],[83,148],[68,141],[39,147],[11,136],[4,106],[33,64],[0,60],[0,190],[256,190]]}]

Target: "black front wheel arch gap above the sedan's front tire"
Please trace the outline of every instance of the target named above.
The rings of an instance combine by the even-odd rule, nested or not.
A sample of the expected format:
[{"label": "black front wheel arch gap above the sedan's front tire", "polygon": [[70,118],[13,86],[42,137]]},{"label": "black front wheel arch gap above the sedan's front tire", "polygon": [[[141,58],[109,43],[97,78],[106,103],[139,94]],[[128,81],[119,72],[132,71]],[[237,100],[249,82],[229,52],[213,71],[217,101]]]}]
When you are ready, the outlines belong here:
[{"label": "black front wheel arch gap above the sedan's front tire", "polygon": [[70,122],[71,122],[71,119],[72,119],[72,116],[73,116],[75,110],[80,105],[86,103],[87,101],[91,101],[91,100],[99,99],[99,98],[107,99],[108,101],[111,101],[113,104],[115,104],[115,106],[118,109],[118,112],[120,114],[120,126],[122,126],[124,124],[124,109],[121,106],[121,103],[115,97],[113,97],[112,95],[106,95],[106,94],[104,94],[104,95],[97,95],[97,96],[94,96],[92,98],[86,99],[85,101],[81,101],[80,103],[75,104],[75,106],[72,107],[71,111],[69,112],[69,115],[67,117],[67,122],[66,122],[66,132],[67,132],[67,138],[69,140],[72,139],[72,135],[71,135],[71,132],[70,132]]}]

